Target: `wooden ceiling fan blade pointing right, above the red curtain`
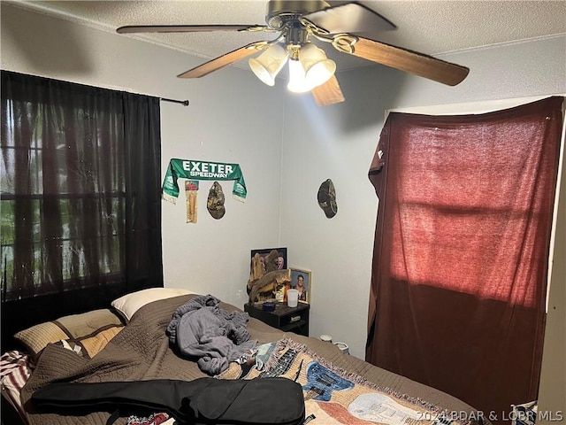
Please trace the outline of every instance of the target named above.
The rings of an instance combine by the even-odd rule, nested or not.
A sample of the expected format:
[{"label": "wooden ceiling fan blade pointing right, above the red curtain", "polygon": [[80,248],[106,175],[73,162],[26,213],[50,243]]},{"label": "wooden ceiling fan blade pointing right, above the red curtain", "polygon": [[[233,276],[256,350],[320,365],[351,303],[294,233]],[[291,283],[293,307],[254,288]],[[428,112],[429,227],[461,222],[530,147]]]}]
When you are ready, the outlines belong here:
[{"label": "wooden ceiling fan blade pointing right, above the red curtain", "polygon": [[[353,37],[347,35],[347,37]],[[340,43],[340,37],[333,41],[333,46],[344,53],[377,62],[378,64],[414,73],[432,81],[438,81],[448,86],[455,86],[463,81],[470,72],[469,68],[432,58],[432,56],[402,49],[383,42],[376,42],[363,37],[354,37],[357,42],[348,51],[348,45]]]}]

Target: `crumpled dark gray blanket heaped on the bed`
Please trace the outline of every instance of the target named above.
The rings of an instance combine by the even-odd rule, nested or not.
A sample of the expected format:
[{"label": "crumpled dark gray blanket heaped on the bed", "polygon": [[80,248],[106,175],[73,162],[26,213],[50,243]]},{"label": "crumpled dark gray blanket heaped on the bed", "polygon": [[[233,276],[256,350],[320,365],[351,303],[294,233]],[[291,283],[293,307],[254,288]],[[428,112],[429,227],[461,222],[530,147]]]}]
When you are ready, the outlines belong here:
[{"label": "crumpled dark gray blanket heaped on the bed", "polygon": [[228,313],[212,295],[202,295],[180,305],[167,326],[169,341],[188,358],[197,358],[198,367],[208,375],[218,375],[231,361],[244,358],[256,347],[249,340],[249,314]]}]

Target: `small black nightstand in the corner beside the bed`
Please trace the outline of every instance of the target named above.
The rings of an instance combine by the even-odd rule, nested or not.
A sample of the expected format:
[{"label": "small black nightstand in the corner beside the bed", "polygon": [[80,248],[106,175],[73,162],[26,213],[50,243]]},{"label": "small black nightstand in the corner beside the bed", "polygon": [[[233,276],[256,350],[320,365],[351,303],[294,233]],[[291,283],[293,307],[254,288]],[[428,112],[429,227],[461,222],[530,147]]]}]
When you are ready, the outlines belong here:
[{"label": "small black nightstand in the corner beside the bed", "polygon": [[249,313],[250,317],[284,332],[303,336],[309,336],[309,310],[310,305],[305,303],[299,303],[296,307],[289,307],[287,303],[276,303],[272,312],[262,310],[261,305],[244,305],[244,311]]}]

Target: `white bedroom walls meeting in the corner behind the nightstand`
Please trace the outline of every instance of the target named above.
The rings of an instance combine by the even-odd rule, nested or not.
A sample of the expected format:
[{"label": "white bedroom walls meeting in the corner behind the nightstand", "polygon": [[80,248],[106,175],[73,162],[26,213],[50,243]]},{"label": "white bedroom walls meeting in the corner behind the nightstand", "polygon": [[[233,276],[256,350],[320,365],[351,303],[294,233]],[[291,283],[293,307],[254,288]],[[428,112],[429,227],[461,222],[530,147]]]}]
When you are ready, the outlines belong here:
[{"label": "white bedroom walls meeting in the corner behind the nightstand", "polygon": [[[320,108],[310,95],[287,94],[283,81],[268,88],[233,67],[179,80],[174,76],[202,60],[2,4],[2,69],[187,98],[187,108],[162,104],[163,174],[173,157],[241,165],[248,199],[239,204],[228,196],[222,220],[206,211],[206,182],[196,225],[185,223],[182,195],[178,205],[163,203],[166,286],[243,305],[249,251],[287,246],[290,266],[313,272],[310,335],[330,334],[360,358],[378,204],[367,172],[386,109],[566,92],[565,47],[560,37],[444,57],[471,69],[455,88],[383,66],[338,73],[347,101]],[[327,178],[339,205],[332,220],[317,205],[317,189]],[[223,188],[229,195],[231,184]],[[563,259],[563,252],[555,258]],[[555,275],[563,276],[563,268]],[[547,343],[558,343],[545,346],[540,394],[546,406],[563,410],[564,381],[556,374],[566,356],[564,290],[558,283],[547,328]]]}]

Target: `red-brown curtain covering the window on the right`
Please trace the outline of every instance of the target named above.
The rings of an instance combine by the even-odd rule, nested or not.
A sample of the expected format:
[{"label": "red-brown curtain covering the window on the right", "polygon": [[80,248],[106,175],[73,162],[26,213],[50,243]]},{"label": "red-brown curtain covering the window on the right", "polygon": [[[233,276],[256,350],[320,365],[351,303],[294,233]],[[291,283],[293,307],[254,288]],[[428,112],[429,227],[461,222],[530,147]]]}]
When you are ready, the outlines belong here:
[{"label": "red-brown curtain covering the window on the right", "polygon": [[509,420],[537,398],[562,97],[481,115],[391,113],[367,361]]}]

